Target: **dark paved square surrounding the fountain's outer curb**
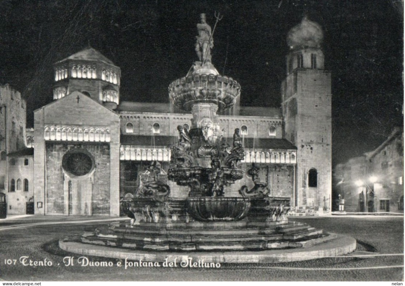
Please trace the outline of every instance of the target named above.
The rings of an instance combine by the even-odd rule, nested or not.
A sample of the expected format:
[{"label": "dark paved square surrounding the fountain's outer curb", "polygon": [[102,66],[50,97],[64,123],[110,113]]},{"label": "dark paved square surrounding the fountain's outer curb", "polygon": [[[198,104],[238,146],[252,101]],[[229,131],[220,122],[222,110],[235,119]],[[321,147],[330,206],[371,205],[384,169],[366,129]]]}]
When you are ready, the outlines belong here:
[{"label": "dark paved square surrounding the fountain's outer curb", "polygon": [[[86,256],[89,261],[111,262],[111,267],[64,266],[69,254],[57,241],[67,235],[92,231],[95,218],[21,217],[0,220],[0,280],[6,281],[403,281],[403,217],[303,217],[290,218],[326,232],[337,232],[358,241],[357,255],[379,256],[322,258],[278,264],[222,264],[219,269],[182,267],[117,267],[117,259]],[[80,222],[79,222],[80,221]],[[81,222],[86,221],[86,222]],[[50,223],[50,224],[48,224]],[[34,225],[35,224],[35,225]],[[21,256],[52,266],[23,266]],[[14,262],[14,260],[16,262]],[[160,263],[162,264],[162,262]]]}]

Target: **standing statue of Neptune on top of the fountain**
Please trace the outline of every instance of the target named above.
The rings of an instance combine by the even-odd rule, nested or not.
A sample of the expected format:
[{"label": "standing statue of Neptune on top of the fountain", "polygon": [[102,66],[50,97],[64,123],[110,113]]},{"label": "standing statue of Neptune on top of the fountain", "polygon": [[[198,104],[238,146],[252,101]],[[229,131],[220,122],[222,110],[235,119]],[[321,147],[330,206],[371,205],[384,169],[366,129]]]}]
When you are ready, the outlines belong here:
[{"label": "standing statue of Neptune on top of the fountain", "polygon": [[200,14],[201,23],[197,24],[198,36],[196,36],[196,52],[200,62],[211,62],[211,48],[214,40],[211,27],[205,22],[205,13]]}]

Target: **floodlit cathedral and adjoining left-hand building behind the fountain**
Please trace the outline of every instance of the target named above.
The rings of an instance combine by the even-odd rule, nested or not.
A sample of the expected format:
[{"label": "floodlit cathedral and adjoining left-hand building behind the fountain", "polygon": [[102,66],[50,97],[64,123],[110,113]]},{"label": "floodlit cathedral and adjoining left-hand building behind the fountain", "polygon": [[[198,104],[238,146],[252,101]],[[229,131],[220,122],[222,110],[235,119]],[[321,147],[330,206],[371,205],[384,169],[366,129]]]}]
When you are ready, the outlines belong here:
[{"label": "floodlit cathedral and adjoining left-hand building behind the fountain", "polygon": [[[312,37],[301,39],[308,27],[304,32]],[[241,130],[243,168],[260,167],[270,195],[289,197],[296,215],[331,210],[331,75],[321,42],[322,29],[306,18],[290,31],[281,108],[243,107],[238,99],[218,116],[228,142],[234,129]],[[34,111],[33,130],[25,129],[24,108],[20,117],[5,114],[16,101],[8,87],[0,89],[0,191],[8,211],[26,213],[28,204],[21,202],[30,202],[30,212],[40,215],[118,216],[120,199],[134,194],[152,161],[168,170],[177,126],[189,129],[192,115],[171,103],[121,101],[120,68],[93,48],[56,62],[54,77],[53,102]],[[200,81],[208,82],[209,75]],[[25,146],[17,147],[18,140]],[[17,170],[15,159],[28,159],[27,168]],[[188,187],[167,183],[172,197],[187,196]],[[226,196],[240,196],[243,185],[253,186],[247,174],[226,187]]]}]

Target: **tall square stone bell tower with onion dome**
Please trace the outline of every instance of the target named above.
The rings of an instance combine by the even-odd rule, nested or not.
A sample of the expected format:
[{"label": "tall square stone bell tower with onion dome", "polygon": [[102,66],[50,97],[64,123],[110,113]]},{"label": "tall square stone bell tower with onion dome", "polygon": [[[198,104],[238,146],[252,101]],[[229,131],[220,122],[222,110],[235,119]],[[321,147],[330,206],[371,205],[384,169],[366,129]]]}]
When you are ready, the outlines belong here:
[{"label": "tall square stone bell tower with onion dome", "polygon": [[331,75],[324,69],[319,24],[304,17],[288,33],[287,77],[281,86],[285,138],[297,146],[294,206],[330,212],[332,196]]}]

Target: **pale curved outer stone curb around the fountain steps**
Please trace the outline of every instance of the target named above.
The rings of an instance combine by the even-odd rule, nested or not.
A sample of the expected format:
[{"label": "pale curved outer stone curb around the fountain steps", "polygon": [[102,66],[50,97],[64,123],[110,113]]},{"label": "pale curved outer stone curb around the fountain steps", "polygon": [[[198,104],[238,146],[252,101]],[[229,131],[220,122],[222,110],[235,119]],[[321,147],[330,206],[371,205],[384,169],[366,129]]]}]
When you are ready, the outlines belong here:
[{"label": "pale curved outer stone curb around the fountain steps", "polygon": [[126,260],[174,262],[193,260],[215,263],[277,263],[311,260],[328,256],[342,256],[356,249],[356,240],[337,234],[337,238],[300,249],[271,249],[262,251],[213,251],[213,252],[152,252],[124,249],[104,245],[91,245],[61,239],[59,247],[67,252],[89,256],[102,256]]}]

